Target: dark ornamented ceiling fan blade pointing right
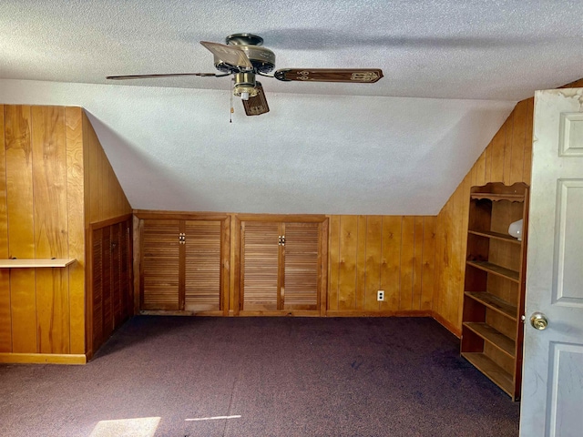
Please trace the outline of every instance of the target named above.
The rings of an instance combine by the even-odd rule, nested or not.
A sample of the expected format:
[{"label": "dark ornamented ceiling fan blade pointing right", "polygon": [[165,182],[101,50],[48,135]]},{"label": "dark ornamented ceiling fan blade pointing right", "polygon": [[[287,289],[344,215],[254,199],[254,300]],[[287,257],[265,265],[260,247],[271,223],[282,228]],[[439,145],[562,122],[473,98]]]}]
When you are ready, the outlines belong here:
[{"label": "dark ornamented ceiling fan blade pointing right", "polygon": [[284,68],[273,75],[283,81],[373,84],[383,77],[380,68]]}]

